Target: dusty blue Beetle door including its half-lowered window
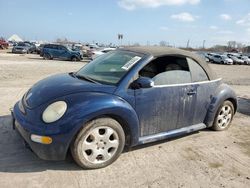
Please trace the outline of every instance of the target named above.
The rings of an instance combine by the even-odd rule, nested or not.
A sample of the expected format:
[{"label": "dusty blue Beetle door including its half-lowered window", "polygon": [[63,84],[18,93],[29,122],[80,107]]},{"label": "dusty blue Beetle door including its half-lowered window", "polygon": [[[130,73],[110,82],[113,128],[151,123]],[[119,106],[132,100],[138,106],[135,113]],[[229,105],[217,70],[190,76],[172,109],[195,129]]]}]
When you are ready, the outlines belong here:
[{"label": "dusty blue Beetle door including its half-lowered window", "polygon": [[135,90],[140,136],[191,125],[196,92],[190,85],[191,74],[185,58],[158,58],[146,65],[139,76],[152,78],[155,84],[152,88]]}]

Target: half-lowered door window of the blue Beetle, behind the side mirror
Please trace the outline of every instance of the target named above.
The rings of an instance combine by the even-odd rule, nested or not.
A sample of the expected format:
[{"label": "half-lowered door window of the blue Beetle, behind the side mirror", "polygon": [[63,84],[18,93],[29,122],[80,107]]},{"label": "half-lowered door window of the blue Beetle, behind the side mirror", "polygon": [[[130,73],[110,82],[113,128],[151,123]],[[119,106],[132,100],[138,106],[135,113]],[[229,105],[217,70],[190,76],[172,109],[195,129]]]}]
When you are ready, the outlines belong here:
[{"label": "half-lowered door window of the blue Beetle, behind the side mirror", "polygon": [[151,78],[155,86],[191,83],[188,62],[183,57],[159,57],[147,64],[139,76]]}]

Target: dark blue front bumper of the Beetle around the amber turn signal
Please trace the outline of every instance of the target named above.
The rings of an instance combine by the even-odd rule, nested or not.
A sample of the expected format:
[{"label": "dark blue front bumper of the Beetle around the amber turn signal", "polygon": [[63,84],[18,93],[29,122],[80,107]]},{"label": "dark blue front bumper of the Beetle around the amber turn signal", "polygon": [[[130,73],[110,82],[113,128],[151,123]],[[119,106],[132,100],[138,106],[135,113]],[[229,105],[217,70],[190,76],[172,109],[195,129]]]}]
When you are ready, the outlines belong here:
[{"label": "dark blue front bumper of the Beetle around the amber turn signal", "polygon": [[[64,160],[68,151],[68,142],[65,140],[65,135],[50,135],[52,138],[51,144],[36,143],[31,140],[31,135],[34,134],[21,125],[20,117],[15,115],[15,109],[11,112],[13,129],[17,130],[31,150],[41,159],[44,160]],[[37,135],[37,133],[35,133]],[[46,136],[46,135],[41,135]]]}]

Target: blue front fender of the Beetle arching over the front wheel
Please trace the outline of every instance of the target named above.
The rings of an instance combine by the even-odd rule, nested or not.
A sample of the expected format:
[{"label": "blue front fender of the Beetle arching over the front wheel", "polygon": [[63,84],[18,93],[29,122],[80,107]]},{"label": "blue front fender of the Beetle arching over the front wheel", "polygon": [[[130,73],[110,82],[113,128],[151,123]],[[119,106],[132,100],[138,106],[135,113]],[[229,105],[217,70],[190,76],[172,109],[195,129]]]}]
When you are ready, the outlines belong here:
[{"label": "blue front fender of the Beetle arching over the front wheel", "polygon": [[68,122],[74,122],[72,138],[92,119],[101,116],[118,118],[123,128],[129,131],[130,145],[138,143],[139,120],[133,107],[124,99],[106,93],[84,92],[67,97],[70,100]]}]

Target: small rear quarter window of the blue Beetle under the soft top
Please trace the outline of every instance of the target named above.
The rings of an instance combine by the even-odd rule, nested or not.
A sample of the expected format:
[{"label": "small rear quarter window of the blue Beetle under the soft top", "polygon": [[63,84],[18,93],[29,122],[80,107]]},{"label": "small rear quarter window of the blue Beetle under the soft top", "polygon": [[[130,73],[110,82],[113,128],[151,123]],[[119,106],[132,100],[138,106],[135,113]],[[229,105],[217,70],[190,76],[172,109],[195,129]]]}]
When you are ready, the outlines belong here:
[{"label": "small rear quarter window of the blue Beetle under the soft top", "polygon": [[208,80],[206,72],[197,62],[190,58],[187,58],[187,62],[191,70],[193,82],[202,82]]}]

